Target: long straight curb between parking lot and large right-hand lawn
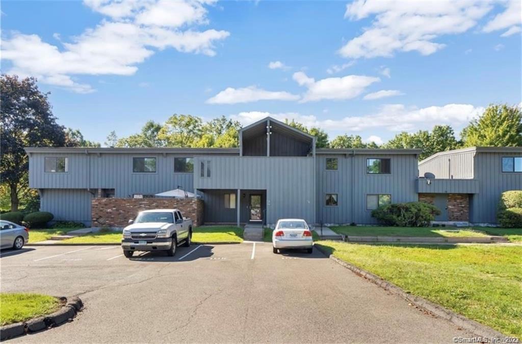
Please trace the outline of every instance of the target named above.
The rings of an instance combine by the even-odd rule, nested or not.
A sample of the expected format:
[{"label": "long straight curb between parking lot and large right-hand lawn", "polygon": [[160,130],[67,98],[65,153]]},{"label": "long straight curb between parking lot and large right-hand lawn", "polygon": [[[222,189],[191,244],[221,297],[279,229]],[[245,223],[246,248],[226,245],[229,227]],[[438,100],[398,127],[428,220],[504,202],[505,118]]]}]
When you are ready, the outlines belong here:
[{"label": "long straight curb between parking lot and large right-hand lawn", "polygon": [[450,311],[447,308],[444,308],[443,306],[441,306],[439,304],[433,303],[433,302],[428,301],[419,296],[414,296],[414,295],[402,290],[401,288],[397,287],[396,285],[382,279],[381,277],[378,277],[377,275],[372,274],[371,272],[367,272],[364,269],[361,269],[355,265],[352,265],[348,262],[340,260],[339,258],[335,257],[333,254],[329,254],[320,245],[314,244],[314,246],[317,250],[322,252],[324,255],[329,257],[329,259],[333,260],[334,262],[338,263],[339,265],[346,267],[347,269],[350,269],[355,274],[366,278],[367,280],[369,280],[372,283],[376,284],[377,286],[383,288],[384,290],[387,290],[389,292],[392,292],[392,293],[402,297],[403,299],[412,303],[413,305],[417,306],[418,308],[421,308],[435,316],[438,316],[447,321],[450,321],[453,324],[457,325],[458,327],[468,330],[478,337],[488,338],[489,340],[491,340],[491,338],[495,338],[495,339],[499,340],[499,341],[496,341],[497,343],[506,342],[506,336],[503,335],[502,333],[500,333],[499,331],[497,331],[489,326],[482,325],[474,320],[468,319],[467,317],[457,314],[453,311]]}]

